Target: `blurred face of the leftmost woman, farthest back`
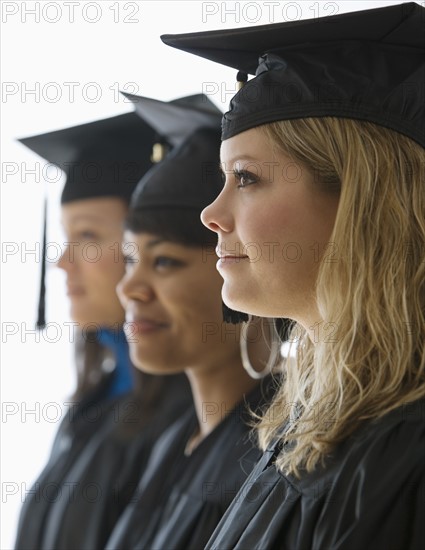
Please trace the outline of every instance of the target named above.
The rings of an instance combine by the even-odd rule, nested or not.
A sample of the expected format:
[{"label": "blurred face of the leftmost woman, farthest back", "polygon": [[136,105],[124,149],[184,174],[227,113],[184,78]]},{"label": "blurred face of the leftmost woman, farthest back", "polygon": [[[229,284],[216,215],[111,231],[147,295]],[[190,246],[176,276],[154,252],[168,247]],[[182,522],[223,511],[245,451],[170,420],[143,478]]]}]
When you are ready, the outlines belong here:
[{"label": "blurred face of the leftmost woman, farthest back", "polygon": [[58,267],[67,275],[71,317],[82,326],[116,328],[124,322],[115,288],[124,274],[121,243],[126,213],[125,202],[113,197],[62,206],[68,246]]}]

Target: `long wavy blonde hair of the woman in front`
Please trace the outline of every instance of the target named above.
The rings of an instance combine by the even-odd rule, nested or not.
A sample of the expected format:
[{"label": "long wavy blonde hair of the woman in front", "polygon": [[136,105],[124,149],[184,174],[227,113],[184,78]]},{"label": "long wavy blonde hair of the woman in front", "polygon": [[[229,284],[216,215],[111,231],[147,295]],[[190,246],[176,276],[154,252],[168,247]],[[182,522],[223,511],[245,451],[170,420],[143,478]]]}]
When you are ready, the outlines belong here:
[{"label": "long wavy blonde hair of the woman in front", "polygon": [[348,119],[261,130],[316,176],[319,190],[340,193],[330,238],[337,261],[322,258],[316,283],[329,330],[313,343],[295,325],[295,367],[283,366],[284,383],[259,425],[262,447],[284,439],[277,465],[299,476],[363,421],[425,395],[425,150]]}]

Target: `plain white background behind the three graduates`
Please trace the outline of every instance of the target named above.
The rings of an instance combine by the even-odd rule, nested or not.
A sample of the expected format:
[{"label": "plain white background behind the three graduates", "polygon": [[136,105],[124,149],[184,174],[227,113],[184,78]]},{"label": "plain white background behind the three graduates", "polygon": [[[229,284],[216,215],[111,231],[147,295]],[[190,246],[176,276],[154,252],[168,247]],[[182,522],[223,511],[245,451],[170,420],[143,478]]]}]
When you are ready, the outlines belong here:
[{"label": "plain white background behind the three graduates", "polygon": [[[235,71],[168,48],[160,34],[306,19],[399,3],[2,0],[2,550],[13,546],[25,490],[47,459],[74,386],[72,331],[64,324],[70,321],[64,276],[53,262],[64,242],[58,209],[63,181],[47,186],[42,173],[40,177],[29,173],[37,162],[41,168],[42,161],[14,140],[130,111],[131,104],[117,94],[118,89],[164,100],[206,91],[224,110],[234,89]],[[36,336],[31,331],[40,258],[31,251],[41,238],[46,188],[48,240],[57,248],[50,249],[47,275],[50,324]]]}]

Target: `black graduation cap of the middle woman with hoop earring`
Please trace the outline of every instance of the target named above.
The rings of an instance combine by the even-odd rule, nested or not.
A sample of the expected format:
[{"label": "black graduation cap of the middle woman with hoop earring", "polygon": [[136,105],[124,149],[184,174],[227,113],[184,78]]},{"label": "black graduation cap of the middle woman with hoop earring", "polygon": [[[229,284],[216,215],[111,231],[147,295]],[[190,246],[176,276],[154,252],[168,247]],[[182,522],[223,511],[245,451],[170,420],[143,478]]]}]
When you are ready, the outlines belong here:
[{"label": "black graduation cap of the middle woman with hoop earring", "polygon": [[[220,124],[222,113],[203,94],[171,102],[124,94],[136,112],[172,148],[137,185],[130,211],[174,209],[201,211],[223,188],[219,170]],[[201,222],[199,226],[202,228]],[[239,322],[245,314],[223,305],[227,322]]]}]

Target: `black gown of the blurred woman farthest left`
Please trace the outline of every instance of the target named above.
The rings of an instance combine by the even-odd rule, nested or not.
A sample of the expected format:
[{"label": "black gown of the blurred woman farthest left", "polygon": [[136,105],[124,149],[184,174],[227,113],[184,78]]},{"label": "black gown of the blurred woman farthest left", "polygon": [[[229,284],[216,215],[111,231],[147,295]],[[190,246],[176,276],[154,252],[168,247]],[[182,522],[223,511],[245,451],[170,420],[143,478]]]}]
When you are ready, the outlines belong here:
[{"label": "black gown of the blurred woman farthest left", "polygon": [[103,549],[137,488],[154,442],[191,408],[185,377],[172,376],[135,435],[131,394],[108,399],[109,379],[62,421],[47,465],[22,506],[16,550]]}]

